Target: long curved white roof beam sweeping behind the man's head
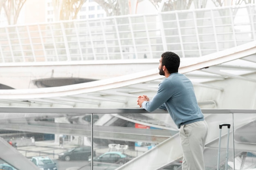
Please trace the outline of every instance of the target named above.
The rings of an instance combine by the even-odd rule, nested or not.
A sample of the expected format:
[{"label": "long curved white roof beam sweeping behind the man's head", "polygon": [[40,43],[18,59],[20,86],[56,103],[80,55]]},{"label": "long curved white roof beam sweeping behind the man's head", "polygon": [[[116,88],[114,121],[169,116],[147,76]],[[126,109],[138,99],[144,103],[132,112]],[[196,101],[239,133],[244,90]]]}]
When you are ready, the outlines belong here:
[{"label": "long curved white roof beam sweeping behind the man's head", "polygon": [[[208,68],[216,66],[218,64],[227,63],[230,61],[238,60],[256,53],[256,41],[249,42],[231,49],[212,53],[203,57],[197,58],[182,58],[182,63],[179,69],[180,73],[188,73],[191,71],[200,70],[202,68]],[[254,58],[254,59],[253,59]],[[251,60],[252,59],[252,60]],[[255,64],[255,57],[248,57],[245,60],[249,60]],[[222,65],[223,66],[223,65]],[[239,63],[238,63],[239,66]],[[238,66],[236,68],[238,68]],[[243,68],[243,67],[241,67]],[[245,68],[245,67],[244,67]],[[247,67],[247,70],[251,69],[251,72],[256,71],[256,66]],[[206,71],[205,69],[204,71]],[[162,79],[159,75],[158,69],[151,69],[142,71],[139,73],[133,73],[130,75],[124,75],[119,77],[113,77],[109,79],[97,80],[94,82],[87,82],[81,84],[73,84],[68,86],[60,87],[49,87],[49,88],[36,88],[36,89],[10,89],[0,90],[0,99],[31,99],[31,98],[48,98],[48,97],[61,97],[70,95],[79,95],[84,93],[93,93],[98,91],[110,90],[113,88],[120,88],[139,84],[143,82],[153,81],[156,79]],[[216,71],[221,76],[233,76],[238,78],[244,78],[242,75],[233,75],[231,73],[221,73]],[[198,75],[204,77],[205,75]],[[206,76],[211,77],[211,76]],[[255,79],[248,79],[249,81],[255,81]],[[193,82],[193,81],[192,81]]]}]

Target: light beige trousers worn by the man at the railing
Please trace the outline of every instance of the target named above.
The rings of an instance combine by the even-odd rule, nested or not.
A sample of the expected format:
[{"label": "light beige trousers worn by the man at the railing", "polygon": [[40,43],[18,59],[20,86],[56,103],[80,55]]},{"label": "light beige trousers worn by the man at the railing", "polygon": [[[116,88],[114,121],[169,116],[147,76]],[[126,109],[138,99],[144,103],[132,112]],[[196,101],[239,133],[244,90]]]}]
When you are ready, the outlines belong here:
[{"label": "light beige trousers worn by the man at the railing", "polygon": [[205,170],[204,145],[207,134],[208,125],[205,120],[180,126],[182,170]]}]

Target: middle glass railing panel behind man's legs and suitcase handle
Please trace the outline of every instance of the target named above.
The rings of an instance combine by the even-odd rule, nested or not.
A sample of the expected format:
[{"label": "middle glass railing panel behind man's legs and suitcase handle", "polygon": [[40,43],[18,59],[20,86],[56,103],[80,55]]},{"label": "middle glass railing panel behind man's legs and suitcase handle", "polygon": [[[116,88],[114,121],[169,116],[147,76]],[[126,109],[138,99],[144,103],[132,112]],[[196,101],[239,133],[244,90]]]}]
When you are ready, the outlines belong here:
[{"label": "middle glass railing panel behind man's legs and suitcase handle", "polygon": [[[150,154],[150,150],[157,150],[158,153],[161,153],[162,158],[169,157],[170,155],[177,154],[176,152],[170,152],[164,149],[162,146],[162,141],[155,142],[156,140],[161,140],[159,136],[168,131],[168,135],[165,136],[166,139],[177,134],[177,127],[173,124],[173,121],[170,118],[168,113],[164,114],[118,114],[118,115],[103,115],[104,120],[106,120],[105,125],[99,125],[99,122],[95,122],[93,127],[93,139],[94,141],[94,150],[96,151],[96,157],[94,158],[93,165],[94,168],[109,168],[115,169],[120,168],[123,163],[120,161],[117,163],[108,162],[109,159],[103,159],[104,154],[106,157],[108,154],[117,154],[118,152],[124,152],[128,155],[133,156],[132,161],[125,163],[123,168],[126,166],[139,166],[140,157],[146,155],[148,160],[155,160],[159,155]],[[217,159],[218,159],[218,137],[219,137],[219,124],[228,123],[233,126],[233,115],[232,114],[205,114],[205,119],[209,125],[209,133],[207,137],[207,145],[204,151],[205,166],[207,170],[216,170]],[[132,123],[132,120],[134,121]],[[135,121],[136,120],[136,121]],[[140,123],[137,123],[139,120]],[[168,129],[168,130],[167,130]],[[166,131],[167,130],[167,131]],[[154,136],[157,131],[157,137]],[[125,135],[127,134],[127,135]],[[146,136],[146,134],[152,135],[151,137]],[[161,134],[161,135],[160,135]],[[233,129],[230,129],[229,135],[229,161],[233,161]],[[100,137],[100,138],[99,138]],[[97,139],[97,140],[96,140]],[[168,141],[172,143],[174,140],[180,140],[178,136],[175,139]],[[164,141],[164,140],[163,140]],[[225,154],[226,154],[226,144],[227,144],[227,128],[222,130],[222,144],[220,150],[220,163],[221,167],[225,164]],[[128,146],[126,146],[128,145]],[[179,144],[178,144],[179,145]],[[127,148],[123,150],[123,148]],[[171,147],[177,147],[173,145]],[[170,148],[171,150],[171,148]],[[113,152],[114,151],[114,152]],[[111,153],[110,153],[111,152]],[[96,161],[97,160],[97,161]],[[104,162],[105,161],[105,162]],[[138,164],[137,164],[138,163]],[[147,162],[150,166],[156,166],[157,161]],[[120,164],[120,165],[119,165]],[[134,164],[134,165],[129,165]],[[163,170],[176,170],[180,169],[182,164],[182,150],[180,154],[177,155],[177,159],[172,160],[165,165]],[[157,165],[158,166],[158,165]],[[163,165],[162,165],[163,166]],[[160,167],[160,166],[159,166]]]}]

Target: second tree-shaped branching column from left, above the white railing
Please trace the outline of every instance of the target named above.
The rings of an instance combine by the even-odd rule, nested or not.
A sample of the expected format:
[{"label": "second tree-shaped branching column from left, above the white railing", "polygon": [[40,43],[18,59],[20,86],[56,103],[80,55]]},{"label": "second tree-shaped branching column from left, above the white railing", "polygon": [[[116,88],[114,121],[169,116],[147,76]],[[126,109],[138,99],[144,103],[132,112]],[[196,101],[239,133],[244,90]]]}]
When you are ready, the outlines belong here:
[{"label": "second tree-shaped branching column from left, above the white railing", "polygon": [[52,0],[55,20],[73,20],[76,19],[86,0]]}]

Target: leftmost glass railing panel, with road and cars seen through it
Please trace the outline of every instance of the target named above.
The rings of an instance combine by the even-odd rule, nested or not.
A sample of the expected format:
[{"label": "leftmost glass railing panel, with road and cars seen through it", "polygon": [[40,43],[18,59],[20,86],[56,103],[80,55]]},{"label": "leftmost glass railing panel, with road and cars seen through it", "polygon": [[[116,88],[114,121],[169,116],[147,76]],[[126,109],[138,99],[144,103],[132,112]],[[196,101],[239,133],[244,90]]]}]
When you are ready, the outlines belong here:
[{"label": "leftmost glass railing panel, with road and cars seen through it", "polygon": [[31,162],[45,170],[74,170],[85,165],[90,169],[91,114],[1,114],[0,168],[15,166],[16,160],[17,170]]}]

